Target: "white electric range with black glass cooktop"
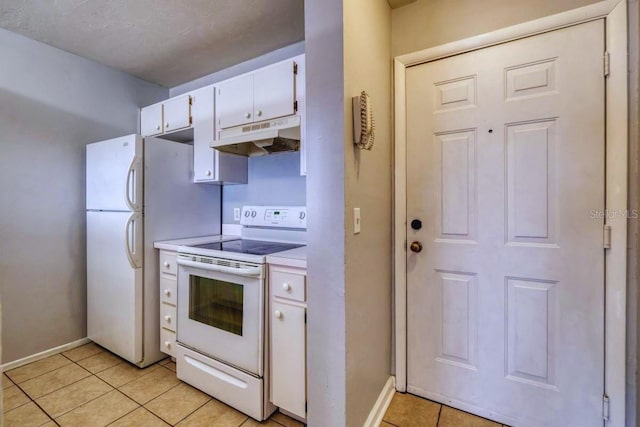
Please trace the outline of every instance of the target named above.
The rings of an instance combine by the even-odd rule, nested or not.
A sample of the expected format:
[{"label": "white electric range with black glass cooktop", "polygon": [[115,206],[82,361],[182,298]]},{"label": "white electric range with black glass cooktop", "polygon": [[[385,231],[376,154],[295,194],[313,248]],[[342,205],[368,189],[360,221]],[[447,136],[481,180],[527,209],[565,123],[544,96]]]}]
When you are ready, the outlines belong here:
[{"label": "white electric range with black glass cooktop", "polygon": [[235,240],[178,248],[176,364],[181,380],[258,421],[268,402],[266,257],[304,246],[306,208],[245,206]]}]

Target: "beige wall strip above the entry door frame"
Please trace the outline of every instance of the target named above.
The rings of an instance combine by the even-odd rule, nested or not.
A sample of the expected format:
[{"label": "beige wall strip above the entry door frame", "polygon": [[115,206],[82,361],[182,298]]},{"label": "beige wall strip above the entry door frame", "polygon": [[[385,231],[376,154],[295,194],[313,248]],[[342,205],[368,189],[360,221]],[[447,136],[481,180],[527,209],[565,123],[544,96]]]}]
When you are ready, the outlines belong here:
[{"label": "beige wall strip above the entry door frame", "polygon": [[415,52],[597,2],[418,0],[393,11],[392,52]]}]

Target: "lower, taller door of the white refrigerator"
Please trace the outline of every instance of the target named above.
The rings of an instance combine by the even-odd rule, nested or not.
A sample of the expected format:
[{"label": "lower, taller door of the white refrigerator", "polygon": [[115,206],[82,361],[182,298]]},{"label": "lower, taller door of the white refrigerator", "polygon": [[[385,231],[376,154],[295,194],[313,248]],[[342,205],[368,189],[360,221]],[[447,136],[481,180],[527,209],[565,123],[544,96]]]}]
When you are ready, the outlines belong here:
[{"label": "lower, taller door of the white refrigerator", "polygon": [[87,212],[87,336],[142,360],[142,215]]}]

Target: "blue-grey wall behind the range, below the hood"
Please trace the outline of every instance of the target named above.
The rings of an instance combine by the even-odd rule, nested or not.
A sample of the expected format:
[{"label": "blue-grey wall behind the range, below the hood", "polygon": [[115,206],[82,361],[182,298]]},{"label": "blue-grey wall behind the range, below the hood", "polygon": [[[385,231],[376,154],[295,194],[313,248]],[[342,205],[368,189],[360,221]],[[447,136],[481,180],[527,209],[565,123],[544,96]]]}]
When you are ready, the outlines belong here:
[{"label": "blue-grey wall behind the range, below the hood", "polygon": [[280,153],[249,158],[249,181],[225,185],[222,190],[222,223],[238,224],[233,209],[244,205],[306,205],[307,180],[300,176],[300,153]]}]

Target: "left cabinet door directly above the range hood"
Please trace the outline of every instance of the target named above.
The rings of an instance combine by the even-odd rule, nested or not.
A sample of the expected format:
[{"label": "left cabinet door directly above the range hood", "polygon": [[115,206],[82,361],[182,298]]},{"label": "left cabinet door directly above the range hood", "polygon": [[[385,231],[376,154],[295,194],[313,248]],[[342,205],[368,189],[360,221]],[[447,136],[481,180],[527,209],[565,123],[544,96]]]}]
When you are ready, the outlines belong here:
[{"label": "left cabinet door directly above the range hood", "polygon": [[219,83],[216,110],[221,129],[253,122],[253,75]]}]

